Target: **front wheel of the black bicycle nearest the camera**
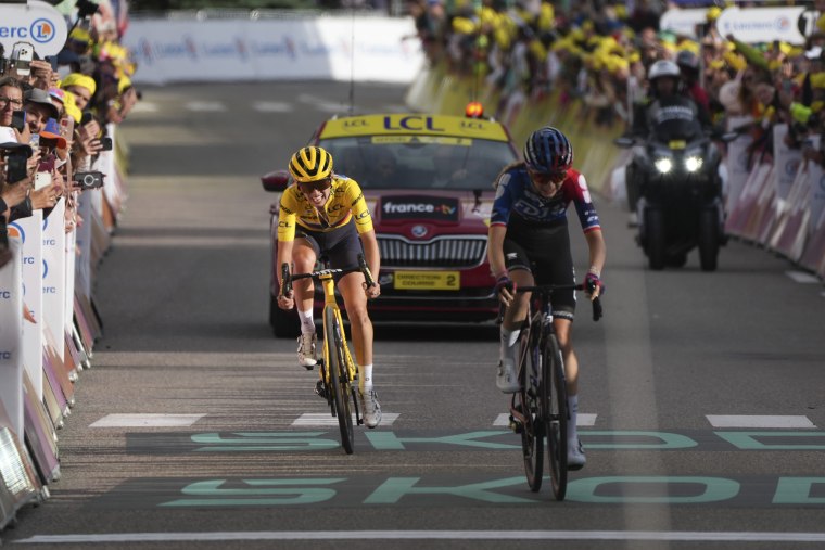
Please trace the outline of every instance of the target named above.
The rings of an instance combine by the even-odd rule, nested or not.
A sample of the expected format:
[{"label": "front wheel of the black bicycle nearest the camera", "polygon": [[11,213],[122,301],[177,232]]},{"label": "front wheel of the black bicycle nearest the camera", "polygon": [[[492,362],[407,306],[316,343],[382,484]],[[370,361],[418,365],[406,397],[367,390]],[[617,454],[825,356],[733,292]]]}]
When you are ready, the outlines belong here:
[{"label": "front wheel of the black bicycle nearest the camera", "polygon": [[555,334],[549,334],[543,348],[543,396],[547,402],[547,456],[550,465],[550,483],[556,500],[564,500],[567,494],[567,444],[568,407],[564,363]]}]

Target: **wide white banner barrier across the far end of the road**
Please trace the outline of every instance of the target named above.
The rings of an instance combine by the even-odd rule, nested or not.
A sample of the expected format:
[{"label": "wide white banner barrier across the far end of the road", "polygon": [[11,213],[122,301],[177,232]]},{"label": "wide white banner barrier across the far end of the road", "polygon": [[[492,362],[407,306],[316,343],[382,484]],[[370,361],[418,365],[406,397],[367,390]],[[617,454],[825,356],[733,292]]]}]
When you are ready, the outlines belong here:
[{"label": "wide white banner barrier across the far end of the road", "polygon": [[325,79],[411,82],[423,63],[411,17],[135,20],[123,43],[136,82]]}]

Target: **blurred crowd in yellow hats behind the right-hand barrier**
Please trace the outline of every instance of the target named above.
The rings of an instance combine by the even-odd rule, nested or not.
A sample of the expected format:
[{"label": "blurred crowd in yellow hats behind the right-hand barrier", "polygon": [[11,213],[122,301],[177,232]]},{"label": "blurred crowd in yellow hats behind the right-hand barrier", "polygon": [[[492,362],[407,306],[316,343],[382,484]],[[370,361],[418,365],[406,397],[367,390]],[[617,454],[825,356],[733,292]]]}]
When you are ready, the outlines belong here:
[{"label": "blurred crowd in yellow hats behind the right-hand barrier", "polygon": [[[737,2],[740,8],[795,3]],[[825,0],[800,5],[825,13]],[[804,43],[745,43],[719,33],[719,5],[706,8],[705,21],[690,36],[660,29],[661,14],[675,8],[653,0],[409,4],[429,62],[444,60],[450,73],[472,78],[479,98],[497,104],[497,113],[488,113],[497,118],[506,119],[506,101],[515,93],[532,101],[553,93],[562,107],[576,101],[596,126],[631,128],[634,105],[649,97],[649,67],[671,60],[681,68],[684,93],[712,124],[723,127],[734,117],[750,117],[738,128],[753,138],[750,165],[772,161],[777,124],[789,126],[789,146],[825,164],[823,149],[809,139],[825,130],[825,15]]]}]

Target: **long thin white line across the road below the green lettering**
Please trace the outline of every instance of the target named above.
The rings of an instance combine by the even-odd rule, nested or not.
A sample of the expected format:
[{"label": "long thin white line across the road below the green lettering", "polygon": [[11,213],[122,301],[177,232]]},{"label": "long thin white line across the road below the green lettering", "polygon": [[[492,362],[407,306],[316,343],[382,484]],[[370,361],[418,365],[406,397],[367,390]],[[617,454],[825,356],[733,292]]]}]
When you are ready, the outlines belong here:
[{"label": "long thin white line across the road below the green lettering", "polygon": [[712,542],[825,542],[825,533],[678,530],[282,530],[36,535],[29,545],[236,540],[659,540]]}]

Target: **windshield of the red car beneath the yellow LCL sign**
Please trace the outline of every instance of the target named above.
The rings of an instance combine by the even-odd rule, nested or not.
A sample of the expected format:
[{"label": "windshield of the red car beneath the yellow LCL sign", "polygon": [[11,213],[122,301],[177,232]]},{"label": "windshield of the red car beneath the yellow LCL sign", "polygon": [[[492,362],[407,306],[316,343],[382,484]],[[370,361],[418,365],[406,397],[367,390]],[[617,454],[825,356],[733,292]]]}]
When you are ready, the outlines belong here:
[{"label": "windshield of the red car beneath the yellow LCL sign", "polygon": [[321,140],[333,169],[361,189],[492,189],[517,157],[503,141],[430,136]]}]

